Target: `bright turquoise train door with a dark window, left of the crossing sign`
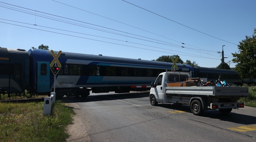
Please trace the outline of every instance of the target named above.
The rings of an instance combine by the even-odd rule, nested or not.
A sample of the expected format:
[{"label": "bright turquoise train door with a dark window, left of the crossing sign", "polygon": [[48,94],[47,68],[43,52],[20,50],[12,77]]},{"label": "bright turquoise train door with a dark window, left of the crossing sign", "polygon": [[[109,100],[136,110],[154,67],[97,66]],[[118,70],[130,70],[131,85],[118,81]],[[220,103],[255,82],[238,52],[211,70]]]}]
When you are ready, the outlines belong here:
[{"label": "bright turquoise train door with a dark window, left of the crossing sign", "polygon": [[50,91],[50,62],[37,62],[37,92]]}]

